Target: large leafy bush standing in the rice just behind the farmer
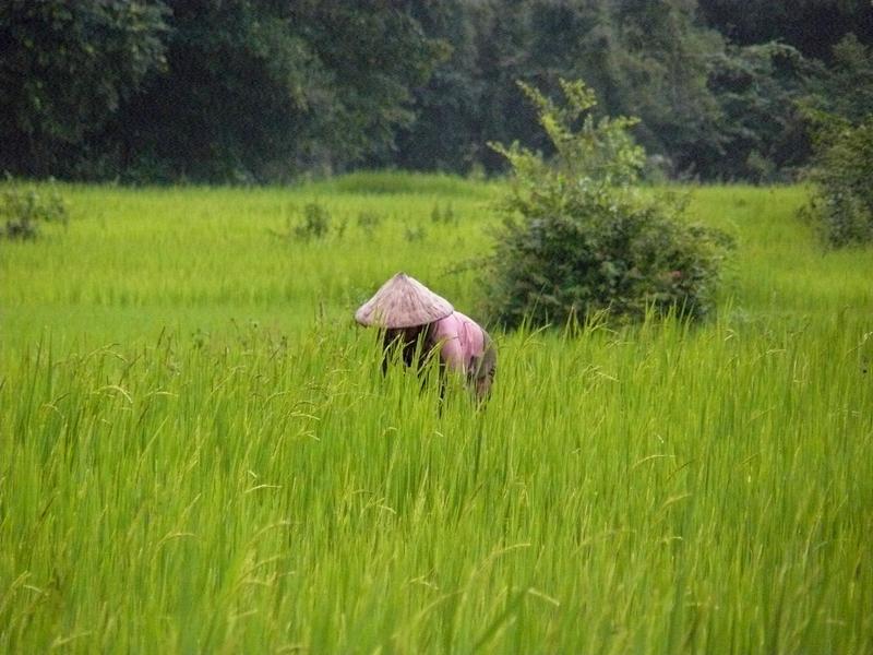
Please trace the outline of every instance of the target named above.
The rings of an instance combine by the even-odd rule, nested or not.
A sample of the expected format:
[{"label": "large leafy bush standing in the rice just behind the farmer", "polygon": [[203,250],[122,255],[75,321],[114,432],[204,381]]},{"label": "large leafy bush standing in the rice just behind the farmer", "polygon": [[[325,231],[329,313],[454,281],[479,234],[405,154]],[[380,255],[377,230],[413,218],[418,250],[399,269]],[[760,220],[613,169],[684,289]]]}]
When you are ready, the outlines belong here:
[{"label": "large leafy bush standing in the rice just behind the farmer", "polygon": [[491,144],[513,168],[498,210],[504,217],[486,287],[491,317],[505,326],[564,323],[648,310],[699,319],[713,308],[726,235],[682,219],[675,195],[642,193],[645,153],[631,118],[595,121],[595,97],[564,82],[566,106],[521,84],[555,148],[551,160],[518,144]]}]

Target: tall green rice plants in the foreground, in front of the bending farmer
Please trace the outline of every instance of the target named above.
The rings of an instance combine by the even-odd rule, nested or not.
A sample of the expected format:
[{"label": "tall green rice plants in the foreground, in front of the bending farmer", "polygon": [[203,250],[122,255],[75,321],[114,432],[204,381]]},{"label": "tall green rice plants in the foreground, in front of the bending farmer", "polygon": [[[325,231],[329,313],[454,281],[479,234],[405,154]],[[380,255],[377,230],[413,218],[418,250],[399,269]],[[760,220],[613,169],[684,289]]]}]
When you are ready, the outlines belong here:
[{"label": "tall green rice plants in the foreground, in front of the bending farmer", "polygon": [[364,331],[38,344],[3,647],[864,652],[863,330],[515,334],[442,414]]}]

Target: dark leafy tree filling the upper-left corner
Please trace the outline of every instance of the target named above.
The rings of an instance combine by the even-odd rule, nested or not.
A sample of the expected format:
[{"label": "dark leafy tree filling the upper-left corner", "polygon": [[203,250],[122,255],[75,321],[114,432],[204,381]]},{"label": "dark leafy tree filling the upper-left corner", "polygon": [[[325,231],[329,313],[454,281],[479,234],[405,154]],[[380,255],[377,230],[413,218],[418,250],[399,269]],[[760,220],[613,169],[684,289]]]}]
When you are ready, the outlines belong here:
[{"label": "dark leafy tree filling the upper-left corner", "polygon": [[67,171],[142,81],[165,64],[155,0],[8,0],[0,5],[0,167]]}]

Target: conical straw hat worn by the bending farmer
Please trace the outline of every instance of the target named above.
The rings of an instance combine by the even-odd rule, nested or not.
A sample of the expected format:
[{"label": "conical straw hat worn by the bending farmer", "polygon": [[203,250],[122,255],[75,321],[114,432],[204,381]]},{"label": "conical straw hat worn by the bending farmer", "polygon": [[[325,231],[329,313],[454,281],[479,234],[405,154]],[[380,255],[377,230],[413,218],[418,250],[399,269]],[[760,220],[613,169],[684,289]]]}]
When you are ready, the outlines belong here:
[{"label": "conical straw hat worn by the bending farmer", "polygon": [[358,308],[355,320],[362,325],[411,327],[439,321],[453,311],[449,300],[406,273],[397,273]]}]

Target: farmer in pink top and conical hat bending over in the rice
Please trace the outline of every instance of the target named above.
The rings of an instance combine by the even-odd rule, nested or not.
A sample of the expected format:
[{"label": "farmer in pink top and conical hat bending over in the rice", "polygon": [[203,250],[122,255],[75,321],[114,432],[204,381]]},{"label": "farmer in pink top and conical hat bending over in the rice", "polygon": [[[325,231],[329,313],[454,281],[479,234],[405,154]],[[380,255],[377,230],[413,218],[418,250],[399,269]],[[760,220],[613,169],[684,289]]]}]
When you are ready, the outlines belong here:
[{"label": "farmer in pink top and conical hat bending over in the rice", "polygon": [[463,374],[477,400],[488,397],[498,359],[491,337],[476,321],[406,273],[383,284],[355,312],[355,319],[385,331],[383,370],[395,347],[402,349],[406,366],[419,369],[431,353],[438,353],[441,373],[449,369]]}]

